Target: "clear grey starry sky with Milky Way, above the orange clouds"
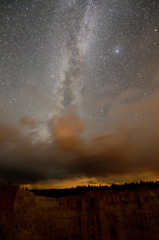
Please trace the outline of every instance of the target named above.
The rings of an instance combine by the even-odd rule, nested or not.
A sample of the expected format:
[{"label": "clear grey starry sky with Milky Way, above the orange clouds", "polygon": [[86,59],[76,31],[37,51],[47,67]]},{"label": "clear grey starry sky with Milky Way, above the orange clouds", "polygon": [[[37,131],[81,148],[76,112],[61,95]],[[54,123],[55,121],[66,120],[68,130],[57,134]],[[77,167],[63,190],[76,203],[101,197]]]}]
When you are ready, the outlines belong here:
[{"label": "clear grey starry sky with Milky Way, above the orange clouds", "polygon": [[[72,75],[78,78],[72,80],[79,95],[76,105],[85,97],[96,101],[102,94],[112,99],[129,88],[142,96],[158,89],[158,5],[2,1],[1,113],[14,108],[18,117],[25,111],[33,117],[55,114],[57,98],[63,99],[64,107],[73,102],[73,90],[67,89]],[[100,91],[103,86],[105,93]]]}]

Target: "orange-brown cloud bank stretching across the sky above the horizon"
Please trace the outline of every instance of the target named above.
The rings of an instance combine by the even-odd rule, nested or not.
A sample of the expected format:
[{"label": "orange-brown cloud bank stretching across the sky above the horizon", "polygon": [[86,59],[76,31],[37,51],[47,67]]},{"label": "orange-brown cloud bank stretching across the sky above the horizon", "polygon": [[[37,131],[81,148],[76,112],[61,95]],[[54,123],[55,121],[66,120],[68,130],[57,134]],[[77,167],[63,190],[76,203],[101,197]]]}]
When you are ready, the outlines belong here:
[{"label": "orange-brown cloud bank stretching across the sky above the horizon", "polygon": [[[135,178],[135,174],[149,172],[157,176],[159,97],[123,101],[123,96],[128,99],[130,95],[118,97],[105,125],[93,128],[75,112],[45,122],[24,116],[18,126],[1,122],[0,178],[27,184],[74,177],[94,181],[111,176]],[[41,125],[48,130],[44,140],[37,134]]]}]

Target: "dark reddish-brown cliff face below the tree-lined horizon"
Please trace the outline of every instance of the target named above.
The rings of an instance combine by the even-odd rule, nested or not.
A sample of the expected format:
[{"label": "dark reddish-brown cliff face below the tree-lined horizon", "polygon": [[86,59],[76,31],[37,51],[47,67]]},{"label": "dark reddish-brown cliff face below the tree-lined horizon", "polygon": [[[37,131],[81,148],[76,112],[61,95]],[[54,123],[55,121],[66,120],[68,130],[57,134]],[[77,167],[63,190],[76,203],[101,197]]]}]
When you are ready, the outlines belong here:
[{"label": "dark reddish-brown cliff face below the tree-lined horizon", "polygon": [[5,196],[0,200],[2,240],[159,239],[159,188],[56,199],[8,189]]}]

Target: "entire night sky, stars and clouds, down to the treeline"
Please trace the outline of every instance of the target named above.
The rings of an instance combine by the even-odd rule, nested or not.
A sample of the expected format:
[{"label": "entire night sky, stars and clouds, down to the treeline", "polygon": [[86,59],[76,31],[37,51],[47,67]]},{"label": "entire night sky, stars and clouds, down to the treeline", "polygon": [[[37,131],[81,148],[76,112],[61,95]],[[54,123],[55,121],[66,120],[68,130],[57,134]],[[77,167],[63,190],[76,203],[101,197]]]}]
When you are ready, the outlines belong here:
[{"label": "entire night sky, stars and clouds, down to the treeline", "polygon": [[158,0],[0,1],[0,179],[159,179]]}]

